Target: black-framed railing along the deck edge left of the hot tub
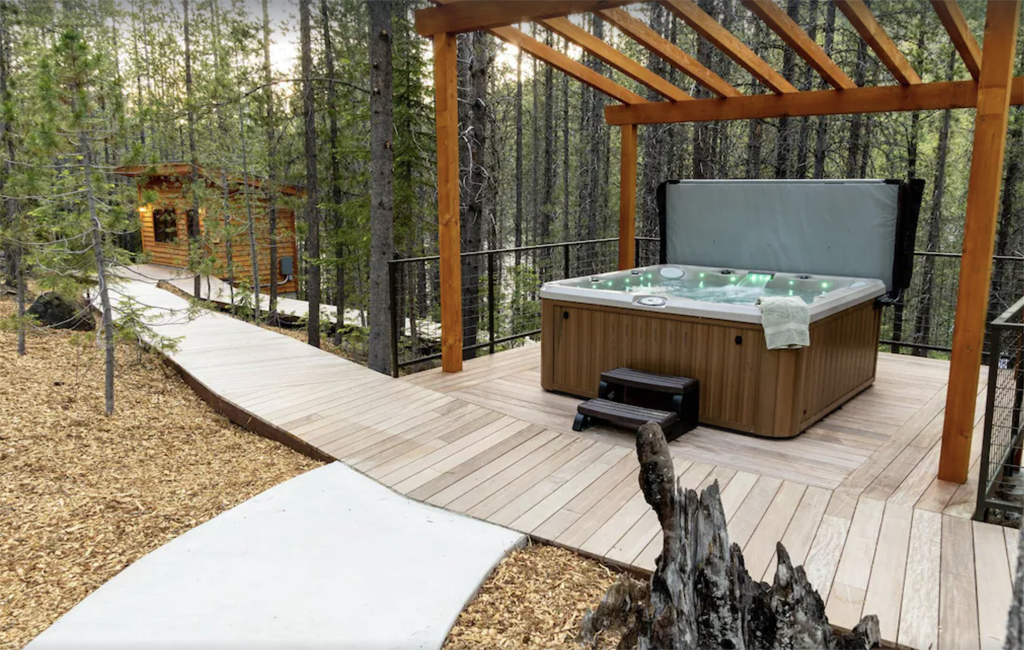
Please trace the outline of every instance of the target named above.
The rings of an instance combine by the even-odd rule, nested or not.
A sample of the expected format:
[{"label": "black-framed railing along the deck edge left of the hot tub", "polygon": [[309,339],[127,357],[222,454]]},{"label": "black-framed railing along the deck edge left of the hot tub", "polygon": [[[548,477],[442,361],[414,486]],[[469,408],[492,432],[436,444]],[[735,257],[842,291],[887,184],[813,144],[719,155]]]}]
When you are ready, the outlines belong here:
[{"label": "black-framed railing along the deck edge left of the hot tub", "polygon": [[[636,265],[656,264],[658,241],[636,239]],[[494,354],[541,334],[544,283],[612,271],[618,239],[560,242],[462,254],[463,356]],[[395,259],[391,289],[391,372],[440,358],[440,257]]]}]

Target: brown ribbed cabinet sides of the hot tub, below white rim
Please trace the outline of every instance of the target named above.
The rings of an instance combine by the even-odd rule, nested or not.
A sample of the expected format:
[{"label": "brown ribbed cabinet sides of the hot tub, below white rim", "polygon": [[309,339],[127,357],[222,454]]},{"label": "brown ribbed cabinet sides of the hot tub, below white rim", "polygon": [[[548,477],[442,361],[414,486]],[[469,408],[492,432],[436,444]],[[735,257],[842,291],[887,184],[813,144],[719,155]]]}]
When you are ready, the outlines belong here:
[{"label": "brown ribbed cabinet sides of the hot tub, below white rim", "polygon": [[542,300],[546,390],[596,397],[628,366],[700,381],[700,422],[790,438],[874,381],[881,309],[868,299],[813,321],[809,347],[768,350],[759,322]]}]

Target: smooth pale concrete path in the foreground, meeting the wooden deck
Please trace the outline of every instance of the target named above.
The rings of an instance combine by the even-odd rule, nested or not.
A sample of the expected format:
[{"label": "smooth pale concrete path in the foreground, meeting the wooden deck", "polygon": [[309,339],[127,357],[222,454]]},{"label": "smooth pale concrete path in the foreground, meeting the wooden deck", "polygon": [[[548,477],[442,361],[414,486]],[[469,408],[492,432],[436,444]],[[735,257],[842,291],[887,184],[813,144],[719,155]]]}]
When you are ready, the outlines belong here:
[{"label": "smooth pale concrete path in the foreground, meeting the wooden deck", "polygon": [[333,463],[138,560],[28,648],[440,648],[524,540]]}]

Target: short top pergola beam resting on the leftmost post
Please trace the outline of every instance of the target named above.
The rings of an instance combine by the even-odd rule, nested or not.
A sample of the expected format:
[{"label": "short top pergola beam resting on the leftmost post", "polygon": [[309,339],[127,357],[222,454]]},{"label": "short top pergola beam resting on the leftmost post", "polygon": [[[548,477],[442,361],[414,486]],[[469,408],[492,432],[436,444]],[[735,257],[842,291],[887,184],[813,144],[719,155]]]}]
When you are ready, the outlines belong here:
[{"label": "short top pergola beam resting on the leftmost post", "polygon": [[621,7],[637,0],[461,0],[416,12],[420,36],[492,30],[517,23]]}]

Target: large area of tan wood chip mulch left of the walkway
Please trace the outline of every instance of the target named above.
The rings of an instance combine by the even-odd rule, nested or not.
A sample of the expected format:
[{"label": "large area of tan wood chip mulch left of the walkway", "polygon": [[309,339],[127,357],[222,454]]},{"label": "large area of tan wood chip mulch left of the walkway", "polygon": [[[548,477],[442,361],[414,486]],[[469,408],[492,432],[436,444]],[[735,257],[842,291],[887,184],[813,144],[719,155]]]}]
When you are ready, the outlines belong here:
[{"label": "large area of tan wood chip mulch left of the walkway", "polygon": [[[12,311],[0,299],[0,319]],[[0,650],[169,539],[321,465],[233,426],[127,345],[106,418],[94,343],[34,332],[18,357],[0,331]]]}]

